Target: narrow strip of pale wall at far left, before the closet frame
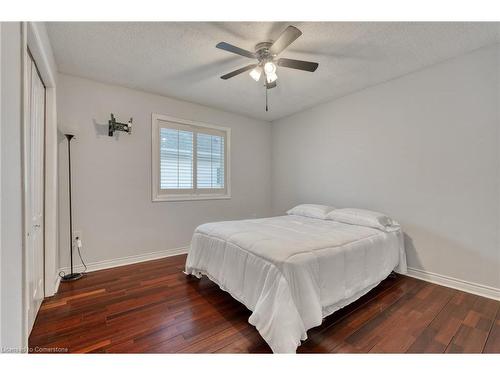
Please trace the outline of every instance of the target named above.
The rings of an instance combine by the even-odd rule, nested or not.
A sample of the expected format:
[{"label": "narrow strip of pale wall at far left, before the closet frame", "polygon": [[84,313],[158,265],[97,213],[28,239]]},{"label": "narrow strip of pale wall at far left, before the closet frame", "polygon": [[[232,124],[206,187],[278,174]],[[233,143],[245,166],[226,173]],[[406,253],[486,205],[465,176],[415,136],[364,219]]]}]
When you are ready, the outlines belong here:
[{"label": "narrow strip of pale wall at far left, before the closet frame", "polygon": [[[23,338],[23,235],[21,179],[21,23],[1,27],[1,252],[2,348],[20,349]],[[2,349],[0,349],[1,351]]]}]

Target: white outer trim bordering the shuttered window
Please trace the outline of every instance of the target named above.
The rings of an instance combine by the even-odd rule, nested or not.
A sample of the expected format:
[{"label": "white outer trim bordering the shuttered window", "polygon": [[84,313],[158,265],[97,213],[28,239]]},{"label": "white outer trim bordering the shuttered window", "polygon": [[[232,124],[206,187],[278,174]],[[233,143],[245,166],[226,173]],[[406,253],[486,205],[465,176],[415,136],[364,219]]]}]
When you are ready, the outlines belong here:
[{"label": "white outer trim bordering the shuttered window", "polygon": [[[160,121],[168,121],[179,125],[187,125],[188,127],[196,127],[202,129],[213,129],[225,133],[225,159],[224,159],[224,179],[225,186],[223,192],[207,192],[207,193],[193,193],[183,194],[172,193],[165,194],[159,189],[159,139],[158,139],[158,126]],[[192,128],[191,128],[192,129]],[[196,140],[195,140],[196,142]],[[194,145],[196,147],[196,145]],[[196,159],[193,166],[194,178],[196,180]],[[196,183],[195,183],[196,185]],[[231,199],[231,128],[208,124],[200,121],[186,120],[168,115],[161,115],[158,113],[151,114],[151,200],[153,202],[169,202],[169,201],[196,201],[196,200],[209,200],[209,199]]]}]

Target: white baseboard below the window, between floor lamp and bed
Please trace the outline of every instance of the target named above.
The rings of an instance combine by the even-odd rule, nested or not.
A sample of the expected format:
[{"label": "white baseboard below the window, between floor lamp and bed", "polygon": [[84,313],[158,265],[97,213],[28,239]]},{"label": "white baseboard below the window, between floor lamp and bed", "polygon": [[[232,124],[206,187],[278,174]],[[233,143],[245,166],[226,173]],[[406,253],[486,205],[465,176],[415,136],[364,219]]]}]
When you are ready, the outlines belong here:
[{"label": "white baseboard below the window, between floor lamp and bed", "polygon": [[[128,257],[102,260],[99,262],[91,262],[91,263],[87,263],[87,272],[105,270],[105,269],[113,268],[113,267],[126,266],[129,264],[146,262],[148,260],[155,260],[155,259],[167,258],[167,257],[175,256],[175,255],[187,254],[187,251],[188,251],[188,247],[178,247],[175,249],[155,251],[152,253],[131,255]],[[85,268],[83,267],[82,264],[78,264],[78,265],[75,265],[73,267],[73,272],[83,272],[84,269]],[[61,271],[64,273],[69,273],[70,267],[61,268]],[[60,277],[58,277],[58,279],[60,279]]]}]

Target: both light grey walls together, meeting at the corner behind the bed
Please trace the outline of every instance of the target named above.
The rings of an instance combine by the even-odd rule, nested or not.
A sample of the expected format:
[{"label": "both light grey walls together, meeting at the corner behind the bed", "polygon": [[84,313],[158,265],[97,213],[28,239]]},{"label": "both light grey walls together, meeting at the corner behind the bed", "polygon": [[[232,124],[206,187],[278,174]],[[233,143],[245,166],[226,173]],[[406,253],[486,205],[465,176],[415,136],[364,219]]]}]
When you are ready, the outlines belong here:
[{"label": "both light grey walls together, meeting at the corner behind the bed", "polygon": [[[365,207],[402,223],[410,267],[499,288],[499,95],[498,45],[271,127],[60,75],[59,127],[77,134],[74,229],[83,232],[85,259],[99,262],[186,246],[193,229],[208,221],[282,214],[300,202]],[[108,137],[110,112],[119,120],[134,117],[133,134]],[[232,128],[231,200],[151,202],[152,112]],[[59,141],[64,267],[67,160]]]}]

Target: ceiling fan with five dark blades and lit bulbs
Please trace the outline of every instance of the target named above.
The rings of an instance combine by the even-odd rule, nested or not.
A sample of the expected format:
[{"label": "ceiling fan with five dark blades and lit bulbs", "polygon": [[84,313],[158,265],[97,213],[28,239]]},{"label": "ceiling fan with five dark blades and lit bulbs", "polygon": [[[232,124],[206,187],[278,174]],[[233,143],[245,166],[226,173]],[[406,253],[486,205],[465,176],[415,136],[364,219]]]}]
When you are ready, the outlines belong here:
[{"label": "ceiling fan with five dark blades and lit bulbs", "polygon": [[318,68],[318,63],[311,61],[293,60],[287,58],[277,58],[277,56],[292,44],[302,32],[294,26],[288,26],[278,37],[276,41],[260,42],[255,45],[255,52],[247,51],[243,48],[233,46],[226,42],[220,42],[216,45],[224,51],[235,53],[237,55],[248,57],[249,59],[257,59],[257,62],[236,69],[230,73],[221,76],[222,79],[229,79],[238,74],[250,70],[250,77],[255,81],[259,81],[262,73],[265,76],[266,85],[266,111],[267,106],[267,90],[276,87],[278,75],[276,74],[277,66],[291,69],[304,70],[306,72],[314,72]]}]

